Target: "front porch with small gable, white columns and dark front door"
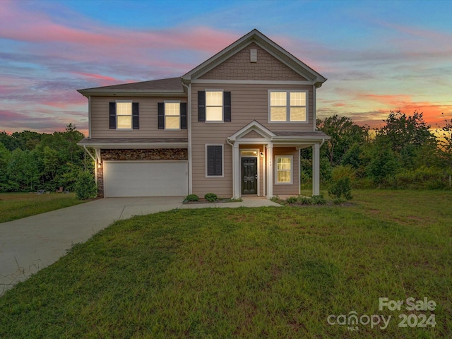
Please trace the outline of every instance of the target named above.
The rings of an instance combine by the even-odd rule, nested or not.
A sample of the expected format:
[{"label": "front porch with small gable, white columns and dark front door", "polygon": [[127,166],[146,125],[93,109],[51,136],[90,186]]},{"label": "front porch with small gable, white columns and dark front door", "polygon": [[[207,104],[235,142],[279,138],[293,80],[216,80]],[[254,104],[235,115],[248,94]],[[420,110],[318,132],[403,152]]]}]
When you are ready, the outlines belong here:
[{"label": "front porch with small gable, white columns and dark front door", "polygon": [[233,198],[300,194],[300,152],[312,147],[312,195],[320,194],[320,147],[323,132],[273,132],[252,121],[227,138],[232,146]]}]

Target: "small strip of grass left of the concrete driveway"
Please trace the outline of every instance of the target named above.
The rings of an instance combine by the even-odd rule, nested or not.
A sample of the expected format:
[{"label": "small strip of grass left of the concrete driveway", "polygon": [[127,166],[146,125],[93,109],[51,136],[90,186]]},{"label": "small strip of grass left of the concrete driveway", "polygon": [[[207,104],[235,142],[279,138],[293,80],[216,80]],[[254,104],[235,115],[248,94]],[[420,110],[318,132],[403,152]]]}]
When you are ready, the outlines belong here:
[{"label": "small strip of grass left of the concrete driveway", "polygon": [[75,193],[28,194],[0,193],[0,222],[29,217],[83,203]]}]

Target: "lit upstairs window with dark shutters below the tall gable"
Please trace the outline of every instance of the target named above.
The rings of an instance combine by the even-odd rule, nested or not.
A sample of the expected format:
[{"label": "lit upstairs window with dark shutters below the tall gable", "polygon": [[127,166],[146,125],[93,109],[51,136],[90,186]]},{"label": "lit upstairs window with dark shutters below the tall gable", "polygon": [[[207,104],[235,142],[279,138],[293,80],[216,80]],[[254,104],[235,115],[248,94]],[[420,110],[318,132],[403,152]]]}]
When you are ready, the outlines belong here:
[{"label": "lit upstairs window with dark shutters below the tall gable", "polygon": [[198,91],[198,121],[231,121],[231,93],[223,90]]}]

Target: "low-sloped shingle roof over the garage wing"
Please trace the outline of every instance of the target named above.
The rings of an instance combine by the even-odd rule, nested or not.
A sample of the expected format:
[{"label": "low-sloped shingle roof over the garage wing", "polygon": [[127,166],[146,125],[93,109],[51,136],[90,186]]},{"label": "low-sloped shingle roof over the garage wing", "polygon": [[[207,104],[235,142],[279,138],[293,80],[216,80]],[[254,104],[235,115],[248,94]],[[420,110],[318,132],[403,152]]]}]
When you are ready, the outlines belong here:
[{"label": "low-sloped shingle roof over the garage wing", "polygon": [[83,95],[185,95],[181,78],[167,78],[139,83],[122,83],[120,85],[102,86],[77,90]]}]

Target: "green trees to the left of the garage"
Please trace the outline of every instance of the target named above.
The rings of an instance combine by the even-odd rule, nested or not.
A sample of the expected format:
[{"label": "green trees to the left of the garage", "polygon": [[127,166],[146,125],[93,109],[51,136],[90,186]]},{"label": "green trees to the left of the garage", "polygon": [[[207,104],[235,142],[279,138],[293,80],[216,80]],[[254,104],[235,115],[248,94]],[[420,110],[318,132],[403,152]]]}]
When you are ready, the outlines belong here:
[{"label": "green trees to the left of the garage", "polygon": [[83,170],[93,172],[93,161],[78,141],[83,133],[69,124],[64,132],[0,133],[0,191],[73,191]]}]

